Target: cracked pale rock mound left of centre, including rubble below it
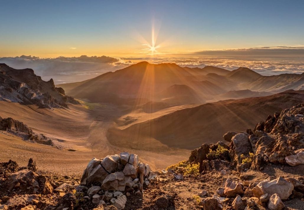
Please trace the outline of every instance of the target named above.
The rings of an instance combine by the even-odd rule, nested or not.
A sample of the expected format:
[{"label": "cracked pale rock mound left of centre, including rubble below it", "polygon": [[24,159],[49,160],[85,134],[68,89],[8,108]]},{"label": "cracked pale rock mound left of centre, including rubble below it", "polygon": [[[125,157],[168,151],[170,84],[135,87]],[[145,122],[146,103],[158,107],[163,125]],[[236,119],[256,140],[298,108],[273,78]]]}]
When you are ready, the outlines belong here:
[{"label": "cracked pale rock mound left of centre, including rubble below it", "polygon": [[112,204],[123,209],[130,192],[142,193],[143,186],[155,176],[148,164],[139,162],[136,154],[122,152],[102,159],[93,158],[76,190],[93,204]]}]

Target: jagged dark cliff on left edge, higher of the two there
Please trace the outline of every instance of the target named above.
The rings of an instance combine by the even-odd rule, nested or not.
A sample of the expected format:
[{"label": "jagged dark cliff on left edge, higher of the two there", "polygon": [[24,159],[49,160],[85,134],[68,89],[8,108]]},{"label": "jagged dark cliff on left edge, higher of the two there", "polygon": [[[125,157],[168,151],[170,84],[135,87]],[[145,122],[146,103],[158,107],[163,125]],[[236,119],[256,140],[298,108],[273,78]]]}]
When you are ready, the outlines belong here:
[{"label": "jagged dark cliff on left edge, higher of the two there", "polygon": [[55,87],[51,79],[46,82],[36,76],[33,69],[13,69],[0,63],[0,100],[35,104],[40,108],[67,107],[67,103],[78,104],[66,96],[64,90]]}]

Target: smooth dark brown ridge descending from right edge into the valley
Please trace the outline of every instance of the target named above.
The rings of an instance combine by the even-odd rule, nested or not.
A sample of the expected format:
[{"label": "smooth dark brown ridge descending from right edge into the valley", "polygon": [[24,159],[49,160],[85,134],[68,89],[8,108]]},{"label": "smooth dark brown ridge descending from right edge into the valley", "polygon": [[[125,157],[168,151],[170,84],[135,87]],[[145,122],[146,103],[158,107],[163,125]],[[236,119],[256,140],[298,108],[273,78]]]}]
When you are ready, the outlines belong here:
[{"label": "smooth dark brown ridge descending from right edge into the valley", "polygon": [[266,97],[225,100],[186,108],[162,117],[133,124],[126,129],[112,128],[108,139],[113,144],[128,142],[133,147],[151,139],[169,147],[191,149],[216,142],[229,130],[254,127],[269,113],[302,103],[304,91],[283,92]]}]

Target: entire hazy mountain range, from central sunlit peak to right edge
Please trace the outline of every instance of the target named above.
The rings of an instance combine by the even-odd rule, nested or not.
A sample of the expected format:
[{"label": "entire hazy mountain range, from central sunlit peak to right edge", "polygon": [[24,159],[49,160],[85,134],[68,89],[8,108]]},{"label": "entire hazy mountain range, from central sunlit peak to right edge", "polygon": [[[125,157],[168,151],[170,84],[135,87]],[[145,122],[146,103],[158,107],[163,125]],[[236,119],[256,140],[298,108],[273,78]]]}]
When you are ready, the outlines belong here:
[{"label": "entire hazy mountain range, from central sunlit peak to right edge", "polygon": [[[191,97],[173,91],[170,97],[161,98],[159,93],[170,86],[185,85],[195,91],[201,101],[225,100],[213,97],[229,91],[250,90],[279,93],[288,89],[302,90],[303,74],[262,76],[251,69],[240,67],[233,71],[206,66],[200,68],[181,67],[174,63],[150,64],[140,62],[115,72],[108,72],[93,79],[69,84],[60,84],[66,92],[76,98],[91,102],[110,102],[118,105],[149,101],[182,103]],[[227,93],[228,95],[231,93]],[[263,94],[262,94],[263,95]],[[258,96],[258,93],[254,96]],[[240,97],[247,97],[246,94]],[[193,102],[193,101],[192,101]],[[192,103],[191,102],[191,103]],[[196,103],[196,102],[195,102]],[[134,105],[134,104],[133,104]],[[135,104],[139,105],[139,104]]]}]

